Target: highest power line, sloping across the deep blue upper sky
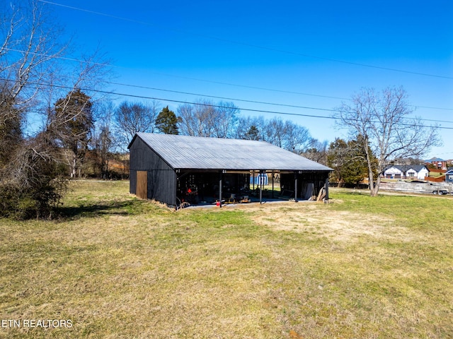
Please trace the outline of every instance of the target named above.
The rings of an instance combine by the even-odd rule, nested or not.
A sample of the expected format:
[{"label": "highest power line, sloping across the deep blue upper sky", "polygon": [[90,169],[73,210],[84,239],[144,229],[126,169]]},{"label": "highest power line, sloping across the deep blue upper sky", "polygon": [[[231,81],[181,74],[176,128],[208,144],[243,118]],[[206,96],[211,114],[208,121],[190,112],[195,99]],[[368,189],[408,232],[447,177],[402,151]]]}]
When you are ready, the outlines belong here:
[{"label": "highest power line, sloping across the deep blue upper sky", "polygon": [[[84,11],[84,12],[93,13],[93,14],[96,14],[96,15],[99,15],[99,16],[115,18],[117,20],[124,20],[124,21],[132,22],[132,23],[139,23],[141,25],[149,25],[149,26],[153,26],[153,27],[162,29],[162,27],[160,25],[159,26],[158,25],[153,25],[151,23],[147,23],[147,22],[144,22],[144,21],[134,20],[134,19],[130,19],[130,18],[124,18],[124,17],[120,17],[120,16],[113,16],[113,15],[110,15],[110,14],[107,14],[107,13],[101,13],[101,12],[97,12],[97,11],[90,11],[90,10],[85,9],[85,8],[67,6],[67,5],[64,5],[64,4],[58,4],[56,2],[47,1],[47,0],[38,0],[38,1],[40,1],[42,3],[45,3],[45,4],[61,6],[61,7],[64,7],[64,8],[74,9],[76,11]],[[250,44],[250,43],[246,43],[246,42],[238,42],[238,41],[223,39],[223,38],[220,38],[220,37],[214,37],[214,36],[210,36],[210,35],[202,35],[202,34],[199,34],[199,33],[185,32],[184,30],[176,30],[174,28],[166,28],[166,30],[171,30],[173,32],[178,32],[180,34],[185,34],[185,35],[195,35],[195,36],[198,36],[198,37],[204,37],[204,38],[211,39],[211,40],[229,42],[231,44],[239,44],[241,46],[253,47],[253,48],[263,49],[263,50],[272,51],[272,52],[280,52],[280,53],[283,53],[283,54],[296,55],[296,56],[299,56],[299,57],[307,57],[307,58],[311,58],[311,59],[331,61],[331,62],[336,62],[336,63],[340,63],[340,64],[349,64],[349,65],[354,65],[354,66],[367,67],[367,68],[371,68],[371,69],[382,69],[384,71],[394,71],[394,72],[399,72],[399,73],[407,73],[407,74],[413,74],[413,75],[416,75],[416,76],[429,76],[429,77],[432,77],[432,78],[453,79],[452,76],[440,76],[440,75],[437,75],[437,74],[421,73],[421,72],[415,72],[415,71],[407,71],[407,70],[403,70],[403,69],[393,69],[393,68],[390,68],[390,67],[383,67],[383,66],[362,64],[362,63],[357,63],[357,62],[352,62],[352,61],[345,61],[345,60],[339,60],[339,59],[331,59],[331,58],[326,58],[326,57],[319,57],[319,56],[314,56],[314,55],[311,55],[311,54],[292,52],[292,51],[287,51],[287,50],[284,50],[284,49],[276,49],[276,48],[271,48],[271,47],[265,47],[265,46],[260,46],[258,44]]]}]

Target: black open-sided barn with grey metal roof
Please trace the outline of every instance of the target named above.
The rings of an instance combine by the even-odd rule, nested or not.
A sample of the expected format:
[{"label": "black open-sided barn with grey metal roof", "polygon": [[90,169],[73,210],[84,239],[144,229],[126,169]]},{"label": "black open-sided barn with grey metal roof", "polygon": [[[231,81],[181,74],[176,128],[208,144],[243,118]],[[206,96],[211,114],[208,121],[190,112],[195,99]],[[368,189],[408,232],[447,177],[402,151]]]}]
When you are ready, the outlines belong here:
[{"label": "black open-sided barn with grey metal roof", "polygon": [[294,201],[323,188],[328,199],[331,168],[264,141],[137,133],[128,148],[130,193],[168,206],[239,201],[263,173],[278,175],[281,193]]}]

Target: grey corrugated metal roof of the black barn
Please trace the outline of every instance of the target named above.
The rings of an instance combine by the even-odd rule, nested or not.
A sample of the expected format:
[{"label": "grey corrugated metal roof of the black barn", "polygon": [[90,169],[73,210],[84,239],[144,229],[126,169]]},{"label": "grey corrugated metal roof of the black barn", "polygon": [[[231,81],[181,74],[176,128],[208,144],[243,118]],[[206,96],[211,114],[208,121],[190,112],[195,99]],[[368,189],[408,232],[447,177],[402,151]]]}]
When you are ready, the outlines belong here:
[{"label": "grey corrugated metal roof of the black barn", "polygon": [[264,141],[137,133],[173,169],[331,171]]}]

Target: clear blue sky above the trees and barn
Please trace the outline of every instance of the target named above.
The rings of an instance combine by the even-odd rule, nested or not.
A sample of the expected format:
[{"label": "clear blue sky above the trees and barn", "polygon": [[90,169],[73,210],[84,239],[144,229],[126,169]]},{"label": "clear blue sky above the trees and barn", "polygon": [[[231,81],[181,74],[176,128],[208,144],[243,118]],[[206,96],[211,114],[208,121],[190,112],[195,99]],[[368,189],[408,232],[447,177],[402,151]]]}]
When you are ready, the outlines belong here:
[{"label": "clear blue sky above the trees and barn", "polygon": [[100,47],[107,54],[116,83],[147,87],[106,90],[158,97],[175,112],[179,104],[170,100],[230,98],[243,115],[291,119],[314,138],[333,141],[346,133],[319,118],[331,115],[325,109],[362,87],[402,85],[414,115],[449,128],[440,130],[444,146],[427,157],[453,158],[453,1],[46,0],[45,6],[80,51]]}]

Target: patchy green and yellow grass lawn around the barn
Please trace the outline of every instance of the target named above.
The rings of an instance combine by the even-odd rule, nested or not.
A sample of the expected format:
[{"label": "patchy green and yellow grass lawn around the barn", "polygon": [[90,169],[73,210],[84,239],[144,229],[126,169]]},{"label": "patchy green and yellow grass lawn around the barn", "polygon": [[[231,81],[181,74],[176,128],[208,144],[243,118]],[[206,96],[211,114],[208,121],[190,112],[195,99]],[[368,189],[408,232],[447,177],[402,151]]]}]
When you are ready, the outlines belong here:
[{"label": "patchy green and yellow grass lawn around the barn", "polygon": [[71,187],[59,220],[0,220],[0,338],[453,338],[452,197],[176,212]]}]

